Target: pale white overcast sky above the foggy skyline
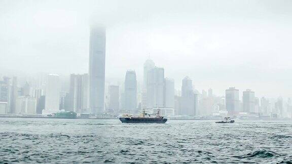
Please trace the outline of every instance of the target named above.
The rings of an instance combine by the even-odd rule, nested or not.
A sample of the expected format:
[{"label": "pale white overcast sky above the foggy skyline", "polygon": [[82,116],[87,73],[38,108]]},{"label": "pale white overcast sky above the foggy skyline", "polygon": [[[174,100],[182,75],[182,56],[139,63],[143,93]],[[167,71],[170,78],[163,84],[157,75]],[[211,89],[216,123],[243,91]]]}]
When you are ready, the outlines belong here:
[{"label": "pale white overcast sky above the foggy skyline", "polygon": [[0,0],[0,73],[87,73],[89,25],[103,22],[106,78],[165,76],[215,94],[292,97],[292,1]]}]

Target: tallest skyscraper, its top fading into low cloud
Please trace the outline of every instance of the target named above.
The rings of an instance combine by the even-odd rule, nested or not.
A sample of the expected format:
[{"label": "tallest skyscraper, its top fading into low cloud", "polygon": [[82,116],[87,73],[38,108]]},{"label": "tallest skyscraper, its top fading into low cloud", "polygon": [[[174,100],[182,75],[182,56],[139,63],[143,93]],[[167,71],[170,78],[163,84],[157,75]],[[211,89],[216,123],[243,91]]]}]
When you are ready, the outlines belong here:
[{"label": "tallest skyscraper, its top fading into low cloud", "polygon": [[89,47],[89,84],[91,113],[104,109],[105,28],[92,26]]}]

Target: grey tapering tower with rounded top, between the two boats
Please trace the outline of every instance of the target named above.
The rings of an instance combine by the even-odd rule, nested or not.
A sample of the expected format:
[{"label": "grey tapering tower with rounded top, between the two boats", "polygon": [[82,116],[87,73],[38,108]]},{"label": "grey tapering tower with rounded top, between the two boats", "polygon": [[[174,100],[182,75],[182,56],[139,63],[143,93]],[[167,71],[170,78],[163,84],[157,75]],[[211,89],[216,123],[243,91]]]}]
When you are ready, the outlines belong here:
[{"label": "grey tapering tower with rounded top, between the two boats", "polygon": [[193,82],[190,77],[186,76],[182,79],[181,86],[181,105],[180,112],[183,115],[195,115],[197,114],[196,109],[196,101],[194,90],[193,90]]}]

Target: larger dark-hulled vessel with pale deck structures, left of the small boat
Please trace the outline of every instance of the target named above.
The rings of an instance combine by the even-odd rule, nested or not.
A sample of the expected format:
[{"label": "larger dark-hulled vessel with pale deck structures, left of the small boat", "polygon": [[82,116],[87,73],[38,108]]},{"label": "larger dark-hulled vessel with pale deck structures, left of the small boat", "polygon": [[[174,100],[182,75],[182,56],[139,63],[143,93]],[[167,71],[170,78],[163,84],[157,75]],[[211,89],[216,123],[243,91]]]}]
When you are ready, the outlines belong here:
[{"label": "larger dark-hulled vessel with pale deck structures, left of the small boat", "polygon": [[123,114],[123,116],[120,117],[120,120],[123,123],[157,123],[157,124],[164,124],[167,121],[166,118],[163,118],[163,116],[160,115],[160,109],[157,109],[157,113],[154,114],[145,113],[145,109],[143,109],[143,112],[139,116]]}]

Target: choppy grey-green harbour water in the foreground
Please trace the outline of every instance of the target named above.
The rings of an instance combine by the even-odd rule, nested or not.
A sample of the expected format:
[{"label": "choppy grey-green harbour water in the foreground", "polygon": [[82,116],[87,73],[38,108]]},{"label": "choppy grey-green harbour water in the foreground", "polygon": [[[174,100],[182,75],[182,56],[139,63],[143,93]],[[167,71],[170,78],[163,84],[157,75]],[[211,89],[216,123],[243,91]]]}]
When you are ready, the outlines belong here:
[{"label": "choppy grey-green harbour water in the foreground", "polygon": [[292,163],[292,122],[0,118],[5,162]]}]

